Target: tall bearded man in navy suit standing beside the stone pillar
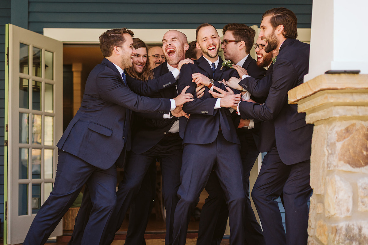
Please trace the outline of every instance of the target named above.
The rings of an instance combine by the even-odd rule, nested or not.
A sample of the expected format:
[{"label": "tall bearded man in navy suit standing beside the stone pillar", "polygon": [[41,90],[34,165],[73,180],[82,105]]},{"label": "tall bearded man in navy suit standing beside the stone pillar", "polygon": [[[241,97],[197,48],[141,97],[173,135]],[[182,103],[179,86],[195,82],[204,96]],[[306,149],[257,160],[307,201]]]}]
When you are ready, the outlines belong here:
[{"label": "tall bearded man in navy suit standing beside the stone pillar", "polygon": [[[261,32],[268,42],[266,52],[279,50],[273,65],[272,85],[264,104],[242,101],[242,118],[273,122],[275,142],[265,155],[252,198],[262,223],[266,244],[307,244],[309,185],[313,125],[305,113],[289,105],[287,91],[303,83],[308,73],[309,44],[296,40],[297,18],[286,8],[273,8],[262,15]],[[242,76],[243,77],[243,76]],[[248,78],[244,78],[245,80]],[[283,195],[286,234],[275,199]]]}]

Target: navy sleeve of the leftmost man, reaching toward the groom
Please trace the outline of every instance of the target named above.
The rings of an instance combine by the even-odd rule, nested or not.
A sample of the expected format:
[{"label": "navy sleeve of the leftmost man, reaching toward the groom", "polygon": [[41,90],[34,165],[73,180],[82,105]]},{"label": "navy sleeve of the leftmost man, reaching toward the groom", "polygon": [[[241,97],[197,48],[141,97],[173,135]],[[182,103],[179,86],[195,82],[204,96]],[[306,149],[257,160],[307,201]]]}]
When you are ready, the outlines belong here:
[{"label": "navy sleeve of the leftmost man, reaching toward the groom", "polygon": [[118,74],[109,70],[98,73],[96,87],[99,96],[108,102],[121,105],[137,112],[170,112],[170,100],[139,96],[121,83]]}]

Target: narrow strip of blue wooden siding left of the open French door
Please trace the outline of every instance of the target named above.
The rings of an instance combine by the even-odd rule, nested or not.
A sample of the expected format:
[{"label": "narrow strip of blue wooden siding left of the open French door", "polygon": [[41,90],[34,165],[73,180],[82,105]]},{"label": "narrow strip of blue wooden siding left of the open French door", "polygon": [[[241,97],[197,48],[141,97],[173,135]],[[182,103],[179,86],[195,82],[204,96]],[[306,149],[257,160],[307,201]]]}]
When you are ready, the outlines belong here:
[{"label": "narrow strip of blue wooden siding left of the open French door", "polygon": [[4,223],[4,100],[5,100],[5,24],[10,22],[10,0],[0,4],[0,237]]}]

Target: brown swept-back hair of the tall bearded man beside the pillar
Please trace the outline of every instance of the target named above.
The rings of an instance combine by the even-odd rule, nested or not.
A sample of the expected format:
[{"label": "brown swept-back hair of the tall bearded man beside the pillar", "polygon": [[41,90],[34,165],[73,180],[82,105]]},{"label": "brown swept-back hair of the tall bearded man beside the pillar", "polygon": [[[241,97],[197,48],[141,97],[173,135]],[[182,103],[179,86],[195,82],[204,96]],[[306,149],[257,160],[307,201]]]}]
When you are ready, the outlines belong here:
[{"label": "brown swept-back hair of the tall bearded man beside the pillar", "polygon": [[[279,25],[284,26],[284,30],[282,34],[286,38],[297,38],[298,31],[297,31],[297,23],[298,19],[293,11],[287,9],[287,8],[272,8],[270,10],[267,10],[262,15],[262,20],[266,16],[271,15],[270,23],[275,29]],[[262,22],[261,20],[261,22]]]}]

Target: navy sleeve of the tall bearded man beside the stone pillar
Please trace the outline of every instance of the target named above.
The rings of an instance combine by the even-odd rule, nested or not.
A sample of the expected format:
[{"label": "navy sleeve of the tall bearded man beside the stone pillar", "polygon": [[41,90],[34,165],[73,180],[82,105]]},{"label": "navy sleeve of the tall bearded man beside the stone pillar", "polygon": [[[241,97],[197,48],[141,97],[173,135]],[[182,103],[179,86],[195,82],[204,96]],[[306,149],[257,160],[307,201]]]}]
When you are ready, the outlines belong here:
[{"label": "navy sleeve of the tall bearded man beside the stone pillar", "polygon": [[[277,65],[276,65],[277,64]],[[297,81],[297,71],[290,61],[277,60],[273,68],[272,86],[270,87],[265,104],[242,101],[239,104],[241,118],[253,118],[270,122],[276,118],[282,107],[287,104],[287,92]]]}]

